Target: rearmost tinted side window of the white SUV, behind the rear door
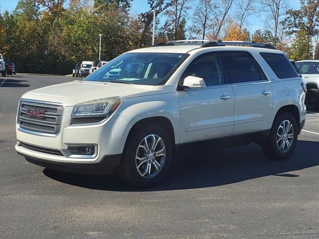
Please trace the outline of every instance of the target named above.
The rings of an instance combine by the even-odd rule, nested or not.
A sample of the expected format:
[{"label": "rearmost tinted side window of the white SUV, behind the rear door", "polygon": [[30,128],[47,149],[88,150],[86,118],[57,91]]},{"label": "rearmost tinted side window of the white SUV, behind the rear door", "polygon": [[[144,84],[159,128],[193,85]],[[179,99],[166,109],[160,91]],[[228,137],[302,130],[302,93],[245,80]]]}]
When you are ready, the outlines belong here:
[{"label": "rearmost tinted side window of the white SUV, behind the rear door", "polygon": [[293,65],[283,54],[260,53],[279,79],[298,77]]}]

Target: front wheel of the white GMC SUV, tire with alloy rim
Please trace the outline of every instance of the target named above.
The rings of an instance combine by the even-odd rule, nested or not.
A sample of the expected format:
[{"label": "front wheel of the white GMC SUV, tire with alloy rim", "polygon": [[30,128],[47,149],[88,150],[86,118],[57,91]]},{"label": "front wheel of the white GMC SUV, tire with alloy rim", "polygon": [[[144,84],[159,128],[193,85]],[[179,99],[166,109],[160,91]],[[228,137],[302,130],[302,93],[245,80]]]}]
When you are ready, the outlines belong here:
[{"label": "front wheel of the white GMC SUV, tire with alloy rim", "polygon": [[[153,138],[153,135],[155,138]],[[150,154],[147,154],[146,137],[150,146],[154,145],[153,142],[159,140],[153,152],[153,149],[150,148]],[[158,152],[159,155],[153,157],[154,152]],[[160,156],[162,153],[165,156]],[[137,157],[143,159],[139,160]],[[144,161],[146,162],[143,163]],[[168,173],[171,161],[172,145],[168,133],[157,124],[141,125],[133,129],[126,141],[118,173],[126,184],[138,188],[147,188],[160,182]],[[138,165],[140,165],[139,168]],[[149,171],[151,171],[151,174]],[[144,173],[145,175],[143,176],[142,174]]]}]

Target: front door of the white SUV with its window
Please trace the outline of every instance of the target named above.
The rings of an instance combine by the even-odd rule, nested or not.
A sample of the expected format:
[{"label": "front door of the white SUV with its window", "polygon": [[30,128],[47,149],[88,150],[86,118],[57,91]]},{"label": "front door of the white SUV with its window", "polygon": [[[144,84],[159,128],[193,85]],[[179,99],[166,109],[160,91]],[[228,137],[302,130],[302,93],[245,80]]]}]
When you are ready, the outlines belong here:
[{"label": "front door of the white SUV with its window", "polygon": [[203,78],[207,88],[185,89],[178,92],[180,142],[232,135],[234,93],[231,85],[226,85],[224,82],[218,53],[206,53],[197,57],[189,65],[182,79],[187,76]]}]

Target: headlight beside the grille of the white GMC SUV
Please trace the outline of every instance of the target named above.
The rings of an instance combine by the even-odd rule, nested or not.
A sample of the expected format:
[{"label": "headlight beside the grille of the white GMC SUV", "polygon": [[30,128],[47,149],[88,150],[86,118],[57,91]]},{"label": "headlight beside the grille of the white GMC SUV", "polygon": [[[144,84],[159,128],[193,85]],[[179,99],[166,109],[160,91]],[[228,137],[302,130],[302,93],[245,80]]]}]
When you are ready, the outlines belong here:
[{"label": "headlight beside the grille of the white GMC SUV", "polygon": [[120,97],[84,102],[74,106],[72,117],[109,117],[120,104]]}]

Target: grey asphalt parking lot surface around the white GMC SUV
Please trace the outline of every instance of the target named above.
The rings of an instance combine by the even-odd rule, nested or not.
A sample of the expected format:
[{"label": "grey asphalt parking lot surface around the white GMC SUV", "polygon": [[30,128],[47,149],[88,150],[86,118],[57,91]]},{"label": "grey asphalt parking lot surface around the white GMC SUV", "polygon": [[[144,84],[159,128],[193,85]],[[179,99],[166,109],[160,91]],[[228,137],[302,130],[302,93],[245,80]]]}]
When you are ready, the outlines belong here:
[{"label": "grey asphalt parking lot surface around the white GMC SUV", "polygon": [[[0,77],[0,238],[318,239],[319,113],[295,153],[271,161],[256,144],[176,158],[161,185],[62,173],[16,154],[17,102],[71,77]],[[317,133],[317,134],[316,134]]]}]

